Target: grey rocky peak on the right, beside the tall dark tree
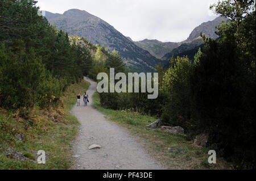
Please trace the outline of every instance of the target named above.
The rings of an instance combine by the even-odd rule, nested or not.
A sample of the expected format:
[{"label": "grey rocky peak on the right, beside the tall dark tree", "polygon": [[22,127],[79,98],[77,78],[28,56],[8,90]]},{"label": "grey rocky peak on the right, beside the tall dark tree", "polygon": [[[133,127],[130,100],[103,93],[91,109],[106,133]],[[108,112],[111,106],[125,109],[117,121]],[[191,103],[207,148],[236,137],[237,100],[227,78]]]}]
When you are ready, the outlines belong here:
[{"label": "grey rocky peak on the right, beside the tall dark tree", "polygon": [[208,37],[212,37],[213,39],[217,39],[218,35],[216,35],[215,33],[217,31],[216,27],[218,27],[222,21],[226,20],[227,18],[219,16],[212,21],[200,24],[190,33],[187,41],[192,41],[196,39],[200,36],[201,33],[205,34]]}]

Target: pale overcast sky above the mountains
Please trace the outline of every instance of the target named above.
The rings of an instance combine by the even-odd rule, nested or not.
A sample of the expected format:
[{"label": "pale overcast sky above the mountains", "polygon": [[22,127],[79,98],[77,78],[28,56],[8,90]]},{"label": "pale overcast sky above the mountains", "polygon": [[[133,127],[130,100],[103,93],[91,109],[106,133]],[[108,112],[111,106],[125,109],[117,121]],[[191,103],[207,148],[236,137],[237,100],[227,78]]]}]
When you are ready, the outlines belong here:
[{"label": "pale overcast sky above the mountains", "polygon": [[183,41],[203,22],[216,18],[209,5],[218,0],[38,0],[40,10],[80,9],[105,20],[131,39]]}]

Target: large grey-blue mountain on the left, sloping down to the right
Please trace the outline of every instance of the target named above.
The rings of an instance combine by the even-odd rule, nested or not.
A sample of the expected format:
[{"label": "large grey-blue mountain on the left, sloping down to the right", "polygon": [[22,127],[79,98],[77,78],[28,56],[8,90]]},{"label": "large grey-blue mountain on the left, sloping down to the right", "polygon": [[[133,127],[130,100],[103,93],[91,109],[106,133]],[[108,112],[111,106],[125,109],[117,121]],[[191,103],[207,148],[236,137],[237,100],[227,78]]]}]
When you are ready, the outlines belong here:
[{"label": "large grey-blue mountain on the left, sloping down to the right", "polygon": [[46,13],[46,18],[59,30],[67,31],[69,35],[85,37],[93,44],[104,44],[108,50],[118,50],[126,64],[134,70],[152,71],[160,62],[147,50],[137,47],[113,26],[86,11],[71,9],[62,15]]}]

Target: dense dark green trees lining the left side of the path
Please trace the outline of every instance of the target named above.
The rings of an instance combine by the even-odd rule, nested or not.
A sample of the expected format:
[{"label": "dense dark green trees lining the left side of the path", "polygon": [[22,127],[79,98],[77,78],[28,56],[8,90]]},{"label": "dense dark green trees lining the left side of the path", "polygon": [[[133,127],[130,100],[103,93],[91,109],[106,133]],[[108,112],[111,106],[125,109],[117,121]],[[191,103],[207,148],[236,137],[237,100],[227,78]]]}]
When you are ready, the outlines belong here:
[{"label": "dense dark green trees lining the left side of the path", "polygon": [[0,2],[0,107],[54,106],[92,66],[89,50],[38,10],[32,0]]}]

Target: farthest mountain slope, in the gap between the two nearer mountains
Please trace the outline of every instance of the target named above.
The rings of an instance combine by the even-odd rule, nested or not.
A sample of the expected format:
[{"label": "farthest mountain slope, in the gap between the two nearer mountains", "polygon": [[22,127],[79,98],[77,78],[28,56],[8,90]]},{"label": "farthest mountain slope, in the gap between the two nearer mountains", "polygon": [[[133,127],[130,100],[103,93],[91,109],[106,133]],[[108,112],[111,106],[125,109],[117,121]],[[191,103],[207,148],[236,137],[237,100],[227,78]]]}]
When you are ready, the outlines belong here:
[{"label": "farthest mountain slope, in the gap between the two nearer mountains", "polygon": [[134,43],[144,50],[148,50],[152,56],[161,59],[166,53],[170,52],[174,48],[179,47],[180,43],[166,42],[158,40],[144,39],[142,41],[134,41]]}]

